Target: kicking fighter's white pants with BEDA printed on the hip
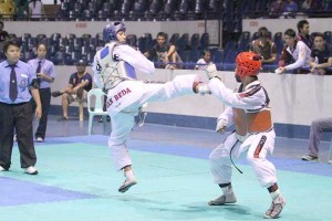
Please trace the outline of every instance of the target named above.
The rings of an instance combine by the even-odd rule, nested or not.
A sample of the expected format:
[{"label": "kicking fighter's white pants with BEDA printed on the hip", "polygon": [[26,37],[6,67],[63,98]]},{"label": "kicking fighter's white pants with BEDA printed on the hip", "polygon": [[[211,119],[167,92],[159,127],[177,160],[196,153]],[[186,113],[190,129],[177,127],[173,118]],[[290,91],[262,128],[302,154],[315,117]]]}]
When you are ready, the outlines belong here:
[{"label": "kicking fighter's white pants with BEDA printed on the hip", "polygon": [[165,84],[125,81],[107,92],[107,113],[112,122],[108,147],[116,170],[132,165],[126,140],[135,125],[134,117],[139,107],[149,102],[164,102],[194,94],[195,77],[196,75],[178,75]]}]

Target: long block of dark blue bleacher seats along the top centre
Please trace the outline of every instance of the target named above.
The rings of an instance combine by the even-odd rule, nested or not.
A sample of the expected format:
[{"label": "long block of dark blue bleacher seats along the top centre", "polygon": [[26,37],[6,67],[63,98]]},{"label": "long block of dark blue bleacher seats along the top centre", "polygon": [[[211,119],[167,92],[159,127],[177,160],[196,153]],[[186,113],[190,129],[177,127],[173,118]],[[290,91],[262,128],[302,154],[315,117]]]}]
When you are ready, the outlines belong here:
[{"label": "long block of dark blue bleacher seats along the top centre", "polygon": [[[55,20],[60,21],[101,21],[125,19],[131,21],[199,20],[220,18],[220,1],[211,0],[137,0],[113,1],[91,0],[61,2]],[[211,13],[206,13],[211,12]],[[83,15],[82,15],[83,14]]]}]

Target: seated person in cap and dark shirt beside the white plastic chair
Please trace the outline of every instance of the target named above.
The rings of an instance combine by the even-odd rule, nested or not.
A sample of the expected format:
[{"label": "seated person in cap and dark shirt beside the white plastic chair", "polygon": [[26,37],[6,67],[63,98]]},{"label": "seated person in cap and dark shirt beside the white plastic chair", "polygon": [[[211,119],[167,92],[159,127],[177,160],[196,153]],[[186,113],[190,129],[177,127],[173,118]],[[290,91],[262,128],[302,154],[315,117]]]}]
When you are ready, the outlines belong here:
[{"label": "seated person in cap and dark shirt beside the white plastic chair", "polygon": [[77,72],[73,73],[65,90],[52,92],[53,97],[62,95],[62,120],[69,119],[68,107],[73,102],[79,102],[80,120],[84,119],[83,106],[87,92],[92,88],[92,76],[86,70],[86,63],[80,60],[76,63]]}]

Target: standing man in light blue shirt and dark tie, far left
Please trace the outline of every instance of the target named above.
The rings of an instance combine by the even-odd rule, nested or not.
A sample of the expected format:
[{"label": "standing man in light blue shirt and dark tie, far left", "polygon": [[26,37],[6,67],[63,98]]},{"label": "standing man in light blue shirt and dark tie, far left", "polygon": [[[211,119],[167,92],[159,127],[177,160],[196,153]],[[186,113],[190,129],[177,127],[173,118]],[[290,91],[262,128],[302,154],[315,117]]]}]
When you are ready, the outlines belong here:
[{"label": "standing man in light blue shirt and dark tie, far left", "polygon": [[0,172],[10,168],[15,130],[21,168],[25,173],[37,175],[32,106],[29,103],[32,94],[37,104],[35,117],[39,119],[42,109],[35,71],[19,60],[21,55],[19,42],[8,41],[3,45],[3,52],[7,60],[0,63]]}]

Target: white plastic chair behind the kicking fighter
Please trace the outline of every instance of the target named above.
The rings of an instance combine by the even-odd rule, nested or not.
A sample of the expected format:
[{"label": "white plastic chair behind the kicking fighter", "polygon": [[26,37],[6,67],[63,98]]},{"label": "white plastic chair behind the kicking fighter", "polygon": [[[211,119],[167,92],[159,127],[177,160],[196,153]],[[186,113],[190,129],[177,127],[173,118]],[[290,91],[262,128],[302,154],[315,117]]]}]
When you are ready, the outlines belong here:
[{"label": "white plastic chair behind the kicking fighter", "polygon": [[[106,94],[100,88],[90,90],[87,93],[89,135],[92,135],[92,124],[93,124],[93,117],[95,115],[103,116],[104,134],[106,131],[107,112],[103,110],[105,96]],[[95,97],[94,106],[92,106],[91,103],[92,97]]]}]

